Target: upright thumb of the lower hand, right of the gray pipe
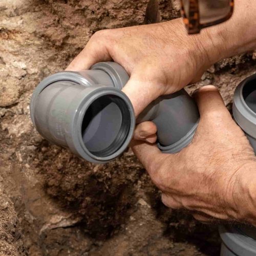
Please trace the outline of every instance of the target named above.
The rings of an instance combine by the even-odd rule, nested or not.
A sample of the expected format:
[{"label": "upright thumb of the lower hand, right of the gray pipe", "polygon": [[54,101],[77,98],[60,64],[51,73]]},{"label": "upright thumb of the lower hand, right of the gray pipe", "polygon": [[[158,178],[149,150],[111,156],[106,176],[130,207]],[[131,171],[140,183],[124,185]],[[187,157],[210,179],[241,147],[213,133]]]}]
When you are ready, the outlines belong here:
[{"label": "upright thumb of the lower hand, right of the gray pipe", "polygon": [[211,117],[212,114],[231,118],[220,92],[215,86],[204,86],[197,90],[193,96],[197,102],[201,118]]}]

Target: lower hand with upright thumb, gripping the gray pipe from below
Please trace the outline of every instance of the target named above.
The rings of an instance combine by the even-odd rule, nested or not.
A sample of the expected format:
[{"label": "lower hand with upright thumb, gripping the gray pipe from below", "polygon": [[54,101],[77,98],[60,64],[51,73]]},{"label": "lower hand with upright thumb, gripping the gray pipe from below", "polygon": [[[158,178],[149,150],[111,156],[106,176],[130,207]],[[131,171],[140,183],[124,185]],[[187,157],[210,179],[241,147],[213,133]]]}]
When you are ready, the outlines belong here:
[{"label": "lower hand with upright thumb, gripping the gray pipe from below", "polygon": [[[186,208],[200,221],[214,218],[256,225],[256,157],[244,132],[232,120],[214,86],[194,94],[200,123],[190,145],[177,154],[163,154],[155,144],[134,140],[132,148],[163,203]],[[137,126],[138,134],[154,137],[151,122]]]}]

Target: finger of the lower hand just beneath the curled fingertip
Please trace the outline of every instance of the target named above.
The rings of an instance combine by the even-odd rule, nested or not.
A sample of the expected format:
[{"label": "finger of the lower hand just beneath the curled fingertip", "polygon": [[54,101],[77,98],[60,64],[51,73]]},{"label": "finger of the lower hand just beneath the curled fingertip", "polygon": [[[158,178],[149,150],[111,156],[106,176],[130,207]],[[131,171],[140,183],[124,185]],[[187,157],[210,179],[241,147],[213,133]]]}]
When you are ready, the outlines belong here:
[{"label": "finger of the lower hand just beneath the curled fingertip", "polygon": [[158,185],[161,183],[161,164],[168,156],[161,153],[156,144],[140,142],[133,140],[131,143],[132,150],[139,161],[143,164],[153,182]]}]

